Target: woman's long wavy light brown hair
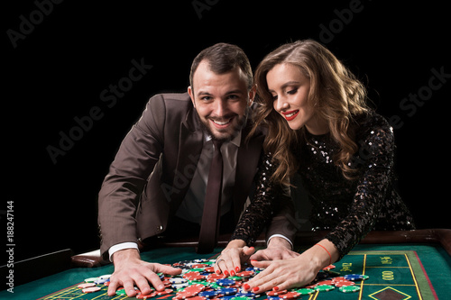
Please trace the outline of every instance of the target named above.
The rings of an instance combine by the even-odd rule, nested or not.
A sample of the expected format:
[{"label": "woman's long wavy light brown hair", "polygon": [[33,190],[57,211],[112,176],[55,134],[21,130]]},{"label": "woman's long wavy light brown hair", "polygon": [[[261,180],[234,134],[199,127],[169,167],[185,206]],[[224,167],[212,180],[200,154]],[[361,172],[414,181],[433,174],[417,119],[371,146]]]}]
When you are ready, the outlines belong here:
[{"label": "woman's long wavy light brown hair", "polygon": [[[299,168],[293,149],[304,141],[304,128],[290,129],[287,121],[273,108],[273,98],[268,91],[266,75],[278,64],[291,64],[310,79],[308,102],[315,113],[326,120],[331,138],[339,145],[333,158],[347,179],[353,179],[354,169],[348,163],[358,150],[354,141],[354,118],[367,114],[366,89],[336,56],[317,41],[295,41],[282,45],[268,54],[255,71],[255,101],[259,103],[254,115],[255,126],[268,128],[263,147],[271,152],[278,168],[272,180],[285,186],[290,185],[290,176]],[[252,132],[251,132],[252,133]]]}]

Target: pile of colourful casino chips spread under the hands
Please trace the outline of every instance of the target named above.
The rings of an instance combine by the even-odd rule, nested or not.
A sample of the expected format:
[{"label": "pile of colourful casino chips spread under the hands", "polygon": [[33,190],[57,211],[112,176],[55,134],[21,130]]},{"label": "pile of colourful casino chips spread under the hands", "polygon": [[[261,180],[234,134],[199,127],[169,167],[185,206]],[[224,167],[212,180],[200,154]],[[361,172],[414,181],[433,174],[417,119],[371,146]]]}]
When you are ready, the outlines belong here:
[{"label": "pile of colourful casino chips spread under the hands", "polygon": [[[165,286],[163,291],[152,290],[148,295],[143,295],[136,288],[136,298],[149,299],[158,295],[173,295],[174,300],[252,300],[261,294],[254,294],[244,291],[241,287],[244,282],[262,271],[260,268],[244,266],[244,270],[235,276],[226,277],[224,274],[216,274],[213,268],[215,259],[195,259],[184,260],[172,264],[174,268],[181,268],[182,273],[177,276],[167,276],[159,274]],[[356,281],[368,279],[368,276],[351,274],[343,277],[339,273],[331,271],[335,266],[330,265],[321,270],[315,280],[302,288],[292,288],[290,290],[272,290],[266,292],[268,299],[297,299],[301,295],[310,295],[316,292],[327,292],[338,289],[343,293],[353,293],[360,290],[355,285]],[[79,285],[84,293],[93,293],[101,288],[98,285],[109,285],[109,275],[85,279],[84,284]],[[125,295],[124,288],[116,291],[116,295]]]}]

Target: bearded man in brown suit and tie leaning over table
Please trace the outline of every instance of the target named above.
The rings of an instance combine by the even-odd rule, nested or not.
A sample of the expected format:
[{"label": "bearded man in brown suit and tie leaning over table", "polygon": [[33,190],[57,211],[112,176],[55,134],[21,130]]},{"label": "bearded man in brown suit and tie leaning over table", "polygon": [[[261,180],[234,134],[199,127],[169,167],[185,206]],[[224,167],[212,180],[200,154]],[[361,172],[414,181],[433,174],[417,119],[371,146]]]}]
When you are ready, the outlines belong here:
[{"label": "bearded man in brown suit and tie leaning over table", "polygon": [[[179,274],[177,268],[141,260],[138,241],[152,245],[152,237],[179,232],[197,236],[200,227],[201,248],[202,230],[208,227],[203,215],[213,201],[207,196],[207,181],[215,150],[220,150],[223,168],[219,231],[233,231],[252,195],[264,135],[257,132],[246,139],[253,99],[247,57],[235,45],[216,44],[194,59],[189,79],[188,94],[151,98],[124,138],[99,192],[101,252],[115,264],[108,295],[119,286],[128,296],[135,295],[133,286],[147,294],[149,283],[161,290],[155,273]],[[268,236],[286,231],[287,213],[280,214]],[[272,241],[279,239],[284,238],[278,235]]]}]

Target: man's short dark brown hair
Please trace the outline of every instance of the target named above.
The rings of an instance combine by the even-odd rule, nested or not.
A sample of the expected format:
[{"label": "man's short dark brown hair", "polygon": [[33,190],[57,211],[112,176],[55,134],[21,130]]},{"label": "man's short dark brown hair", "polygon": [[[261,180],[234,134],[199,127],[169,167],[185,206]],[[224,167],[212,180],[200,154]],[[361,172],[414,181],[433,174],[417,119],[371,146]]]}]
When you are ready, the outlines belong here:
[{"label": "man's short dark brown hair", "polygon": [[241,68],[247,78],[247,89],[251,90],[253,87],[253,71],[244,50],[238,46],[220,42],[200,51],[193,60],[189,74],[189,85],[192,88],[194,88],[194,72],[196,72],[198,65],[204,59],[207,60],[208,67],[218,75],[225,74],[236,67]]}]

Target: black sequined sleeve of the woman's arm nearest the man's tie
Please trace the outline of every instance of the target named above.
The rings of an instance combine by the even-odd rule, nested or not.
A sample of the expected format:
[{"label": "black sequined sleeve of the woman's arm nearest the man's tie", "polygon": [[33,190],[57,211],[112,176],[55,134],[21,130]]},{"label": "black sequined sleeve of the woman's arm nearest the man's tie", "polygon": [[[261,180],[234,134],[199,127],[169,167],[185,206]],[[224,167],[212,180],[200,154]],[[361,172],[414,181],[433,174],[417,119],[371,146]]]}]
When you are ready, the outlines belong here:
[{"label": "black sequined sleeve of the woman's arm nearest the man's tie", "polygon": [[281,186],[270,183],[274,170],[271,154],[262,155],[253,200],[244,210],[231,240],[244,240],[248,246],[253,245],[263,228],[271,223],[274,212],[279,210],[279,204],[282,203],[279,197],[282,195],[288,198],[283,195]]}]

